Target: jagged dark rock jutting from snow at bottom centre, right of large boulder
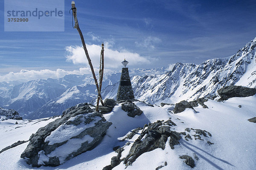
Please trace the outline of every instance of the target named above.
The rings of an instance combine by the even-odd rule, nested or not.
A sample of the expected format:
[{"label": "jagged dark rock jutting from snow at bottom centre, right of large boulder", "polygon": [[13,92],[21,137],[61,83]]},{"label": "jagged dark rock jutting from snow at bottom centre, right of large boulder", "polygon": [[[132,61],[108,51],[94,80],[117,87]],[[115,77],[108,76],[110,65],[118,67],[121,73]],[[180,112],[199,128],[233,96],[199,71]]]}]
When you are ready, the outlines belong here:
[{"label": "jagged dark rock jutting from snow at bottom centre, right of large boulder", "polygon": [[136,139],[131,146],[128,156],[124,159],[126,166],[131,165],[145,152],[157,148],[162,148],[164,150],[168,137],[170,137],[169,144],[172,149],[174,149],[175,144],[179,144],[179,140],[181,139],[180,133],[171,131],[167,123],[158,120],[157,122],[148,124],[148,128],[143,130],[141,135]]}]

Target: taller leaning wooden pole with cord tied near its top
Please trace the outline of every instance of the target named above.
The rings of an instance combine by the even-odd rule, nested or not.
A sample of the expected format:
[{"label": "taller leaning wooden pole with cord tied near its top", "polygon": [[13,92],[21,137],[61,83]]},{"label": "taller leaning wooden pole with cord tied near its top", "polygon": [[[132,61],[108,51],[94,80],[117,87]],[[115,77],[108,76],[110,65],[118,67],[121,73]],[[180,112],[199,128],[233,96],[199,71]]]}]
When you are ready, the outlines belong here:
[{"label": "taller leaning wooden pole with cord tied near its top", "polygon": [[[92,71],[92,74],[93,74],[93,79],[95,81],[95,85],[96,85],[96,88],[97,88],[97,91],[98,91],[98,95],[100,97],[100,101],[101,101],[101,104],[102,106],[104,106],[104,103],[102,101],[102,97],[101,97],[101,94],[100,94],[100,89],[99,89],[99,85],[98,85],[98,81],[97,81],[97,78],[96,78],[96,75],[95,75],[95,72],[94,72],[94,69],[93,69],[93,64],[91,62],[91,59],[89,57],[89,54],[88,54],[88,51],[87,51],[87,48],[86,48],[86,45],[85,45],[85,42],[84,42],[84,36],[82,34],[82,31],[81,29],[79,28],[79,24],[78,24],[78,20],[77,20],[77,16],[76,16],[76,6],[75,6],[75,1],[72,1],[71,3],[71,6],[72,6],[72,12],[73,12],[73,17],[74,17],[74,20],[75,20],[75,26],[74,28],[77,29],[79,35],[80,35],[80,38],[81,38],[81,42],[83,44],[83,48],[84,48],[84,52],[85,52],[85,55],[87,57],[87,60],[88,60],[88,63],[90,65],[90,69]],[[98,109],[96,109],[96,111],[98,111]]]}]

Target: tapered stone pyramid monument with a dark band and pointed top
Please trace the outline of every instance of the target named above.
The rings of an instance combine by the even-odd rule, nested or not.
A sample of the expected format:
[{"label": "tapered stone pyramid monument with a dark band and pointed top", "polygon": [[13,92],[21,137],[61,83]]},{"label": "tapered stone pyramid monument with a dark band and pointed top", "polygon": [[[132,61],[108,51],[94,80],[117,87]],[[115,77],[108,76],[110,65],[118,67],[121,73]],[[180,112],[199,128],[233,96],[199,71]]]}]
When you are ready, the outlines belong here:
[{"label": "tapered stone pyramid monument with a dark band and pointed top", "polygon": [[122,74],[119,82],[119,88],[117,91],[116,100],[131,100],[131,99],[134,99],[134,92],[131,87],[131,79],[129,76],[129,71],[128,71],[128,68],[126,68],[128,61],[124,60],[122,64],[125,67],[122,68]]}]

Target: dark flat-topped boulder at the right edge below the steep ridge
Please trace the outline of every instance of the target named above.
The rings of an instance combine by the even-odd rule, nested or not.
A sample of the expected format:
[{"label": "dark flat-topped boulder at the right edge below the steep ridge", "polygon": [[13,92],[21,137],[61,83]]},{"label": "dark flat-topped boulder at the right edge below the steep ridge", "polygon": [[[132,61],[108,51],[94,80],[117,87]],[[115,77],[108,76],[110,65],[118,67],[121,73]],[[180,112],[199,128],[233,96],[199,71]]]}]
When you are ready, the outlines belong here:
[{"label": "dark flat-topped boulder at the right edge below the steep ridge", "polygon": [[230,85],[219,89],[218,94],[221,96],[222,100],[227,100],[232,97],[253,96],[256,94],[256,89],[237,85]]}]

